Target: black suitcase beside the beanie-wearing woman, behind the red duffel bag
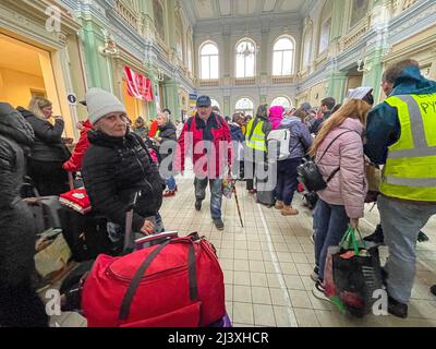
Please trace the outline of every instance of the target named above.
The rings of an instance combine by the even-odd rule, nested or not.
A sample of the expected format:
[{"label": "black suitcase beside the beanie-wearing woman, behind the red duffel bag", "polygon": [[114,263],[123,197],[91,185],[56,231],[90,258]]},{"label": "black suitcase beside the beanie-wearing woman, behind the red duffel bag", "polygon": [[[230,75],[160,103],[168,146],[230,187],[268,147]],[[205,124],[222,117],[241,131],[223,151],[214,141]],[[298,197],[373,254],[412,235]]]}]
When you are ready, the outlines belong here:
[{"label": "black suitcase beside the beanie-wearing woman, behind the red duffel bag", "polygon": [[[62,233],[76,262],[95,260],[97,255],[114,254],[117,246],[110,241],[107,219],[89,213],[82,215],[68,207],[60,210]],[[121,246],[122,249],[122,246]]]}]

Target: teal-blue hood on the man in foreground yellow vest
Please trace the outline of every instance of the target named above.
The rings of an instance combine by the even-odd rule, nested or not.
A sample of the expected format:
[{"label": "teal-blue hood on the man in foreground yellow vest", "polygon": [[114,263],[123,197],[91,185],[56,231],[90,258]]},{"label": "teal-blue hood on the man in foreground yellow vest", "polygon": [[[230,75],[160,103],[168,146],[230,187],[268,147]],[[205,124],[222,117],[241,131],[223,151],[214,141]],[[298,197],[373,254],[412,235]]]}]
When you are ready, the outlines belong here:
[{"label": "teal-blue hood on the man in foreground yellow vest", "polygon": [[405,68],[397,79],[390,96],[426,95],[436,93],[436,82],[425,79],[417,67]]}]

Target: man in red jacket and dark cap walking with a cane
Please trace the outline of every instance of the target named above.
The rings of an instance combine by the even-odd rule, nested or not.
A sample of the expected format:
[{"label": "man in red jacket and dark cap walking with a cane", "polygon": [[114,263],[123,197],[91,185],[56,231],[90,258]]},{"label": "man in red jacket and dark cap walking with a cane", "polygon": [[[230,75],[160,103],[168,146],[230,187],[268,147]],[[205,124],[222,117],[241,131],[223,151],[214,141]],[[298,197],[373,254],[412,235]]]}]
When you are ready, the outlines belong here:
[{"label": "man in red jacket and dark cap walking with a cane", "polygon": [[183,171],[186,154],[190,152],[193,154],[195,209],[202,209],[209,182],[211,218],[217,229],[223,230],[222,178],[231,168],[230,129],[222,117],[213,112],[208,96],[198,97],[196,106],[196,115],[187,120],[179,137],[174,169]]}]

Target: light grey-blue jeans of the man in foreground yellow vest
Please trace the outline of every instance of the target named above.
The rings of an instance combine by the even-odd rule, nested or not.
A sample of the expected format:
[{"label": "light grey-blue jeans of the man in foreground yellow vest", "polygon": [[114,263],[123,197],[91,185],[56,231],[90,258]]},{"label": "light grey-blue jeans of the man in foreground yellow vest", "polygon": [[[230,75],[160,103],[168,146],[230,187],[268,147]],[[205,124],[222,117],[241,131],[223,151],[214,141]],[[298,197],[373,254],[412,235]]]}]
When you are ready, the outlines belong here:
[{"label": "light grey-blue jeans of the man in foreground yellow vest", "polygon": [[416,272],[417,234],[428,219],[436,215],[436,204],[420,205],[379,195],[377,206],[385,243],[389,249],[389,258],[385,266],[388,273],[388,293],[407,304]]}]

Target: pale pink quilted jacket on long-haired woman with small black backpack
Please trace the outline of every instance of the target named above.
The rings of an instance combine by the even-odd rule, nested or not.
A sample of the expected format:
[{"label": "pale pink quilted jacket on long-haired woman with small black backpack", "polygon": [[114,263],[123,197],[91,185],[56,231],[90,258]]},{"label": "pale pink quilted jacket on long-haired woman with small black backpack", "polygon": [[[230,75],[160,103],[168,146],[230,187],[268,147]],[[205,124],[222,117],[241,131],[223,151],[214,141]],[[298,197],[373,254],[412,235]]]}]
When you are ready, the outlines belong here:
[{"label": "pale pink quilted jacket on long-haired woman with small black backpack", "polygon": [[[319,161],[331,141],[346,131],[355,132],[342,134]],[[362,123],[356,119],[349,118],[339,128],[327,134],[316,153],[316,164],[324,180],[327,181],[335,169],[340,167],[339,172],[328,182],[327,188],[318,192],[319,197],[328,204],[346,206],[347,215],[350,218],[362,218],[364,215],[367,184],[362,133]]]}]

